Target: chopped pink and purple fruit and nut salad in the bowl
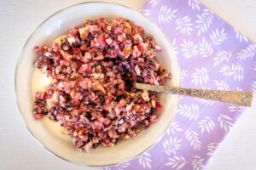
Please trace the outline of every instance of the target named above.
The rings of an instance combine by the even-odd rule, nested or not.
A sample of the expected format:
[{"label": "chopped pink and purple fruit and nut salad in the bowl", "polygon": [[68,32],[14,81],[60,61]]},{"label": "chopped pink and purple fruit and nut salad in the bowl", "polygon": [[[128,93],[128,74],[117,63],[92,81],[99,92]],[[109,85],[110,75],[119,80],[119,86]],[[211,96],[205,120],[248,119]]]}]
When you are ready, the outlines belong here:
[{"label": "chopped pink and purple fruit and nut salad in the bowl", "polygon": [[155,59],[160,51],[143,27],[121,17],[85,20],[35,47],[35,66],[53,79],[35,94],[35,119],[59,122],[78,150],[135,137],[158,121],[162,106],[154,92],[133,83],[163,85],[172,78]]}]

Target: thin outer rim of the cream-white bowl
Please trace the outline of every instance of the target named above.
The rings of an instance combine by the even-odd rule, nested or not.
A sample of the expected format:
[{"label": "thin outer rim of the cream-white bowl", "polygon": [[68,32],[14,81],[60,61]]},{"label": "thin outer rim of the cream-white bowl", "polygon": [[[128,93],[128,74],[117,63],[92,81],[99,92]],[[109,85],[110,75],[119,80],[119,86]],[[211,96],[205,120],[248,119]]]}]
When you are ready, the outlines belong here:
[{"label": "thin outer rim of the cream-white bowl", "polygon": [[[86,4],[86,3],[107,3],[107,4],[113,4],[113,5],[121,6],[121,7],[123,7],[123,8],[130,9],[130,10],[136,12],[137,14],[142,15],[145,20],[148,20],[149,22],[151,22],[151,24],[153,24],[154,26],[157,26],[152,20],[148,19],[148,17],[147,17],[145,14],[143,14],[143,13],[141,13],[140,11],[137,11],[137,10],[135,10],[135,9],[133,9],[133,8],[130,8],[130,7],[126,6],[126,5],[124,5],[124,4],[120,4],[120,3],[103,2],[103,1],[90,1],[90,2],[84,2],[84,3],[75,3],[75,4],[73,4],[73,5],[67,6],[67,7],[65,7],[65,8],[61,8],[60,10],[57,10],[55,13],[50,14],[46,19],[44,19],[38,26],[36,26],[36,28],[32,31],[32,33],[31,33],[30,36],[27,38],[26,42],[24,43],[23,47],[22,47],[21,50],[20,50],[19,58],[18,58],[18,60],[17,60],[17,62],[16,62],[16,65],[15,65],[15,98],[16,98],[16,105],[17,105],[18,111],[19,111],[19,113],[20,113],[19,115],[21,116],[21,118],[22,118],[22,120],[23,120],[22,122],[25,124],[26,129],[27,129],[28,132],[31,134],[32,139],[34,139],[34,140],[35,140],[42,148],[44,148],[44,150],[46,150],[50,155],[59,157],[61,160],[64,160],[64,161],[67,161],[67,162],[70,162],[70,163],[73,163],[73,164],[76,164],[76,165],[79,165],[79,166],[83,166],[83,167],[108,167],[108,166],[115,166],[115,165],[124,163],[124,162],[126,162],[126,161],[131,161],[132,159],[134,159],[134,158],[136,158],[136,157],[138,157],[138,156],[141,156],[141,155],[143,155],[143,153],[145,153],[145,152],[147,152],[148,150],[152,149],[152,148],[154,147],[154,145],[157,144],[157,143],[160,141],[160,139],[162,139],[163,136],[166,134],[166,130],[170,127],[170,125],[171,125],[171,123],[172,123],[172,121],[173,121],[173,118],[174,118],[174,116],[175,116],[175,113],[174,113],[174,116],[172,117],[172,121],[171,121],[171,122],[169,123],[169,125],[166,127],[164,133],[160,135],[159,139],[155,140],[154,144],[152,144],[151,146],[149,146],[147,149],[145,149],[145,150],[143,150],[142,152],[138,153],[137,156],[133,156],[133,157],[131,157],[131,158],[129,158],[129,159],[126,159],[125,161],[121,161],[121,162],[119,162],[119,163],[106,164],[106,165],[101,165],[101,166],[99,166],[99,165],[88,165],[88,164],[85,164],[85,163],[79,163],[79,162],[67,160],[66,158],[64,158],[64,157],[62,157],[62,156],[60,156],[60,155],[58,155],[57,153],[52,152],[52,151],[49,150],[46,146],[44,146],[44,144],[42,144],[42,143],[39,141],[39,139],[32,133],[32,131],[27,127],[25,117],[23,116],[23,114],[21,113],[21,110],[20,110],[20,101],[19,101],[19,99],[18,99],[18,96],[19,96],[19,95],[18,95],[18,89],[17,89],[17,86],[18,86],[18,84],[17,84],[17,71],[19,70],[18,68],[19,68],[19,64],[20,64],[20,59],[22,58],[22,54],[23,54],[23,51],[24,51],[24,49],[25,49],[25,47],[26,47],[27,42],[30,41],[30,39],[31,39],[32,36],[34,35],[35,31],[37,31],[40,26],[44,25],[44,23],[45,23],[47,20],[49,20],[51,17],[53,17],[55,14],[59,14],[59,13],[61,13],[62,11],[66,10],[67,8],[72,8],[72,7],[79,6],[79,5]],[[157,26],[157,27],[159,28],[159,26]],[[165,34],[160,28],[159,28],[159,30],[160,30],[160,32],[161,32],[163,35],[166,36],[166,34]],[[169,44],[172,45],[172,42],[170,41],[169,38],[166,37],[166,40],[167,40],[167,42],[168,42]],[[175,54],[175,55],[176,55],[176,54]],[[176,55],[176,59],[177,59],[177,55]],[[178,87],[181,87],[181,86],[182,86],[182,83],[181,83],[180,65],[179,65],[178,59],[177,59],[177,68],[178,68]],[[180,101],[180,97],[177,96],[177,105],[178,105],[179,101]]]}]

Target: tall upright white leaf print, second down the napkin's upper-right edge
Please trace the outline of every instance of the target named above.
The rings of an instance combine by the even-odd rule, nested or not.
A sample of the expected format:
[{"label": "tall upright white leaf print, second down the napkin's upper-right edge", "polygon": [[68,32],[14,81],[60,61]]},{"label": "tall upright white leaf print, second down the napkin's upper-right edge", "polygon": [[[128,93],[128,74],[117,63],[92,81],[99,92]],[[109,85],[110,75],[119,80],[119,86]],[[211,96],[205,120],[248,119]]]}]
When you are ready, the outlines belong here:
[{"label": "tall upright white leaf print, second down the napkin's upper-right edge", "polygon": [[197,14],[196,16],[198,20],[195,20],[195,28],[198,29],[197,34],[198,36],[200,36],[201,33],[205,33],[206,31],[208,31],[208,29],[212,25],[213,13],[211,10],[205,8],[202,14]]}]

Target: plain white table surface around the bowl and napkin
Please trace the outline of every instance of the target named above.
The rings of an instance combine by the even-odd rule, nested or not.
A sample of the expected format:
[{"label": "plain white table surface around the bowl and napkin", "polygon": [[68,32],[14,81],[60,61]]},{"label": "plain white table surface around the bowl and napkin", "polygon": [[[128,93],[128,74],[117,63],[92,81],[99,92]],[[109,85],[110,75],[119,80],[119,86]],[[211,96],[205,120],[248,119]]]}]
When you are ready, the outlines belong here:
[{"label": "plain white table surface around the bowl and napkin", "polygon": [[[110,1],[110,0],[108,0]],[[256,0],[201,0],[256,42]],[[82,0],[0,0],[0,169],[98,169],[50,155],[28,133],[15,103],[15,65],[32,31],[50,14]],[[112,0],[141,8],[144,0]],[[256,99],[236,122],[207,170],[256,169]]]}]

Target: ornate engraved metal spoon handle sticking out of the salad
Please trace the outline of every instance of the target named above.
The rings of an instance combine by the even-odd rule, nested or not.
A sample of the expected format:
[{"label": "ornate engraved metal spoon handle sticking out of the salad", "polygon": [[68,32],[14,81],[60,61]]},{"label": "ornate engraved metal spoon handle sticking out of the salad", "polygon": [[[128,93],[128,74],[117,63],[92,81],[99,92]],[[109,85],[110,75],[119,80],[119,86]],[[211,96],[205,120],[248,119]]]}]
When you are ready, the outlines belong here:
[{"label": "ornate engraved metal spoon handle sticking out of the salad", "polygon": [[212,99],[225,103],[252,106],[253,93],[252,92],[239,92],[239,91],[226,91],[226,90],[207,90],[196,88],[176,88],[171,86],[156,86],[151,84],[135,83],[135,88],[149,90],[154,92],[164,92],[179,95],[188,95],[201,99]]}]

